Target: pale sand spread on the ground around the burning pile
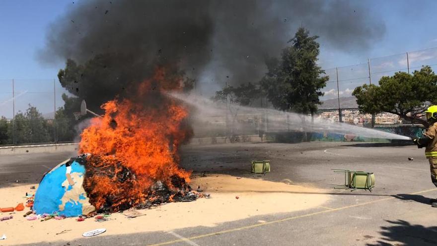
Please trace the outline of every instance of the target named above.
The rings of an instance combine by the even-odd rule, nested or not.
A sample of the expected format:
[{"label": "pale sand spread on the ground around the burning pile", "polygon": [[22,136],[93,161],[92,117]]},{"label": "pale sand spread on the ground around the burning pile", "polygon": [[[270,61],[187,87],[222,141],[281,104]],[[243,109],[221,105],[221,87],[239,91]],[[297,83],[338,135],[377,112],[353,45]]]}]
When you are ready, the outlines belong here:
[{"label": "pale sand spread on the ground around the burning pile", "polygon": [[[29,185],[16,185],[0,189],[0,207],[15,207],[25,202],[26,192],[34,193]],[[214,227],[219,223],[246,219],[251,216],[294,212],[322,205],[329,199],[324,190],[309,185],[291,185],[255,178],[237,178],[230,175],[209,174],[195,176],[191,186],[198,186],[211,194],[210,199],[200,198],[193,202],[168,203],[152,209],[139,210],[146,214],[127,218],[114,213],[104,222],[88,218],[77,222],[75,218],[64,220],[27,221],[21,212],[14,212],[13,219],[0,222],[0,246],[38,242],[69,241],[82,237],[82,233],[106,228],[100,236],[132,234],[152,231],[170,231],[187,227]],[[239,198],[236,199],[235,197]],[[8,216],[1,213],[0,216]],[[63,232],[62,234],[58,234]],[[58,235],[57,235],[58,234]]]}]

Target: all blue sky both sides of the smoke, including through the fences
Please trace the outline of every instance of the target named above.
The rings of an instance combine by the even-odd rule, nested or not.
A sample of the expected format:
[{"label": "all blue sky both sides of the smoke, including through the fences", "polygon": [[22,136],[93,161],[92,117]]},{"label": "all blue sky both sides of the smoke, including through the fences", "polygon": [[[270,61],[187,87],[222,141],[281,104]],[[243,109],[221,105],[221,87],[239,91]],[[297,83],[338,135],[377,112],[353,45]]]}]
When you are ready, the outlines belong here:
[{"label": "all blue sky both sides of the smoke, including through the fences", "polygon": [[[371,0],[365,1],[365,4],[374,16],[383,20],[385,34],[370,44],[368,49],[356,52],[332,50],[321,43],[320,64],[323,68],[360,64],[367,62],[367,58],[437,47],[437,1]],[[56,78],[64,64],[43,64],[36,58],[36,53],[44,46],[50,23],[57,21],[75,5],[77,2],[73,3],[72,0],[0,1],[0,115],[11,115],[11,79],[15,79],[16,95],[19,95],[16,97],[16,111],[25,110],[27,104],[32,103],[43,113],[53,112],[54,79],[57,90],[56,106],[62,106],[60,94],[63,89]],[[323,41],[322,38],[320,40]],[[416,58],[413,59],[417,59],[417,63],[437,63],[435,56],[437,53],[432,50],[429,58],[422,53],[416,53]],[[379,63],[380,66],[385,66],[381,67],[385,70],[398,69],[402,58],[392,57],[387,62],[379,60]],[[377,62],[376,59],[375,64]],[[365,66],[357,68],[364,69]],[[346,76],[346,72],[342,75]],[[351,86],[345,85],[340,90],[346,95],[347,89],[353,89]],[[325,91],[333,92],[333,89],[334,87],[328,86]]]}]

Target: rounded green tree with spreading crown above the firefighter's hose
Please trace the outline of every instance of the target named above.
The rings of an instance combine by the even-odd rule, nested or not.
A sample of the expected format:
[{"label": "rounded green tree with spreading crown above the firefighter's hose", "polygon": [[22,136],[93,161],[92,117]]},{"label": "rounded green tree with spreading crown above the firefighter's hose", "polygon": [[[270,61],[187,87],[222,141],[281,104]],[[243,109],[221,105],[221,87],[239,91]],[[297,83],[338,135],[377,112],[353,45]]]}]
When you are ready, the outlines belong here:
[{"label": "rounded green tree with spreading crown above the firefighter's hose", "polygon": [[397,72],[393,76],[384,76],[379,80],[379,86],[358,86],[352,95],[357,97],[362,113],[387,112],[428,126],[428,122],[421,119],[421,116],[430,104],[437,103],[436,91],[437,76],[429,66],[425,66],[412,75]]}]

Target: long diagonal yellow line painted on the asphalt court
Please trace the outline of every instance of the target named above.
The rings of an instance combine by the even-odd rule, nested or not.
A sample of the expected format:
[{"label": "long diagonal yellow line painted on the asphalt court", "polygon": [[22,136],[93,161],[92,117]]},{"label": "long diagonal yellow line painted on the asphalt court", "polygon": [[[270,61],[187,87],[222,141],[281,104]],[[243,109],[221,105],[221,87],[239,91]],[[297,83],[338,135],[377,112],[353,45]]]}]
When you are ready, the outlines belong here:
[{"label": "long diagonal yellow line painted on the asphalt court", "polygon": [[[429,189],[429,190],[422,190],[422,191],[410,193],[410,195],[416,195],[416,194],[421,194],[421,193],[426,193],[426,192],[429,192],[429,191],[436,191],[436,190],[437,190],[437,188]],[[284,222],[284,221],[300,219],[300,218],[309,217],[309,216],[313,216],[313,215],[329,213],[329,212],[343,210],[343,209],[347,209],[347,208],[360,207],[360,206],[364,206],[364,205],[367,205],[367,204],[387,201],[387,200],[391,200],[391,199],[395,199],[395,198],[396,197],[388,197],[388,198],[383,198],[383,199],[379,199],[379,200],[363,202],[363,203],[359,203],[359,204],[355,204],[355,205],[344,206],[344,207],[340,207],[340,208],[331,208],[331,209],[327,208],[327,210],[323,210],[323,211],[319,211],[319,212],[314,212],[314,213],[310,213],[310,214],[292,216],[292,217],[288,217],[288,218],[284,218],[284,219],[280,219],[280,220],[268,221],[268,222],[265,222],[265,223],[254,224],[254,225],[250,225],[250,226],[243,226],[243,227],[238,227],[238,228],[218,231],[218,232],[215,232],[215,233],[203,234],[203,235],[194,236],[194,237],[186,238],[186,239],[194,240],[194,239],[206,238],[206,237],[210,237],[210,236],[215,236],[215,235],[220,235],[220,234],[225,234],[225,233],[230,233],[230,232],[235,232],[235,231],[240,231],[240,230],[245,230],[245,229],[251,229],[251,228],[256,228],[256,227],[270,225],[270,224],[276,224],[276,223],[280,223],[280,222]],[[183,241],[184,240],[179,239],[179,240],[167,241],[167,242],[163,242],[163,243],[159,243],[159,244],[154,244],[154,245],[149,245],[149,246],[169,245],[169,244],[179,243],[179,242],[183,242]]]}]

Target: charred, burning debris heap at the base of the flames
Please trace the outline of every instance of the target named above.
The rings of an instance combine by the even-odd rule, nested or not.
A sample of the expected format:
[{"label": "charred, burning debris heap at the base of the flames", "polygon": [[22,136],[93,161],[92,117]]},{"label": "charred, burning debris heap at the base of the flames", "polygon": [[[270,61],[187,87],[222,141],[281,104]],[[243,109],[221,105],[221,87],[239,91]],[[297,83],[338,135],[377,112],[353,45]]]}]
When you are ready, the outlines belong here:
[{"label": "charred, burning debris heap at the base of the flames", "polygon": [[73,161],[85,166],[83,188],[97,213],[144,209],[167,202],[190,202],[199,195],[206,196],[192,191],[185,179],[177,175],[156,180],[147,190],[132,193],[141,180],[114,155],[83,155]]}]

